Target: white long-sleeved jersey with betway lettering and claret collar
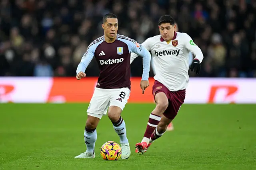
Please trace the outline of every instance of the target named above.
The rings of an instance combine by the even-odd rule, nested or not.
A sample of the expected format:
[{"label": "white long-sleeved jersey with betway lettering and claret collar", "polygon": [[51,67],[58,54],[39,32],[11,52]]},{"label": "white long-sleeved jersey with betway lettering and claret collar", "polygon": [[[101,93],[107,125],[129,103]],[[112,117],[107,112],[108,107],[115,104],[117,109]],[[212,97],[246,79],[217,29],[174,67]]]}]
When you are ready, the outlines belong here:
[{"label": "white long-sleeved jersey with betway lettering and claret collar", "polygon": [[[174,39],[169,44],[161,35],[157,35],[148,38],[142,46],[152,53],[151,63],[156,74],[154,79],[170,91],[186,89],[188,86],[190,51],[200,63],[204,58],[201,49],[186,33],[175,32]],[[135,53],[131,54],[131,63],[137,56]]]}]

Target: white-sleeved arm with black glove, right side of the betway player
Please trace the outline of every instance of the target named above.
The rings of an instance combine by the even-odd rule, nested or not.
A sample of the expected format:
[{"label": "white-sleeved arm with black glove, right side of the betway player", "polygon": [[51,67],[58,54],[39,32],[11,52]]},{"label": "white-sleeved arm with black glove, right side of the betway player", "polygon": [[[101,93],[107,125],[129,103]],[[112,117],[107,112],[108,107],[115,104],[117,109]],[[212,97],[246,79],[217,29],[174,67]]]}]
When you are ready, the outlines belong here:
[{"label": "white-sleeved arm with black glove, right side of the betway player", "polygon": [[196,74],[199,74],[201,71],[200,63],[203,61],[204,55],[202,50],[193,42],[192,38],[186,33],[184,33],[184,35],[186,36],[186,38],[184,38],[184,41],[186,41],[186,48],[196,56],[190,65],[190,70],[194,71]]}]

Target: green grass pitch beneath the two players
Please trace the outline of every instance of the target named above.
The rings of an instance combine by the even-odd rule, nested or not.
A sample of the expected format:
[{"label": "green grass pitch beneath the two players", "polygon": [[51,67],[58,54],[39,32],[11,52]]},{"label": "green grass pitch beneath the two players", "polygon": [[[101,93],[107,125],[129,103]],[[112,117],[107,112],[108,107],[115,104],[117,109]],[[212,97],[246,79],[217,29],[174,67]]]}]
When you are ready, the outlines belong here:
[{"label": "green grass pitch beneath the two players", "polygon": [[135,144],[154,104],[127,104],[122,113],[132,154],[105,161],[100,147],[119,143],[105,116],[97,128],[96,158],[84,152],[87,104],[0,104],[0,169],[10,170],[252,170],[256,169],[256,105],[183,105],[166,132],[144,155]]}]

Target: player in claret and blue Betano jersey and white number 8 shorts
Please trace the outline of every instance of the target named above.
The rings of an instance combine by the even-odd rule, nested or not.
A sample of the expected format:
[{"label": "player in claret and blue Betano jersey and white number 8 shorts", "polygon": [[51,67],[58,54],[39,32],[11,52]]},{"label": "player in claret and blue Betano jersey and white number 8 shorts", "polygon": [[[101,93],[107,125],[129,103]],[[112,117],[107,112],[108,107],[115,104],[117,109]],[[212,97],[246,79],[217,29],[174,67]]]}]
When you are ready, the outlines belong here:
[{"label": "player in claret and blue Betano jersey and white number 8 shorts", "polygon": [[118,19],[114,14],[106,14],[103,17],[102,28],[104,29],[104,36],[90,43],[76,70],[78,80],[85,77],[86,67],[93,57],[100,68],[100,76],[87,110],[88,118],[84,130],[84,142],[87,149],[86,152],[75,158],[95,157],[96,127],[108,110],[108,117],[114,130],[120,136],[121,158],[127,159],[131,151],[121,113],[130,95],[130,53],[134,52],[143,57],[143,73],[140,82],[142,93],[149,85],[151,56],[141,44],[117,34]]}]

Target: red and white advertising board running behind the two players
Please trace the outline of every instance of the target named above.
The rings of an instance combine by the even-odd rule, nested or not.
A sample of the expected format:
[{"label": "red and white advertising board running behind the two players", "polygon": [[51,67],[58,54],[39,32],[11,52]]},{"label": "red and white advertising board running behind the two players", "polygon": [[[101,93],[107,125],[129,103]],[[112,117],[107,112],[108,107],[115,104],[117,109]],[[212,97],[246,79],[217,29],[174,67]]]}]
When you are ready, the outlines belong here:
[{"label": "red and white advertising board running behind the two players", "polygon": [[[1,77],[0,103],[90,102],[97,78]],[[131,78],[129,103],[153,103],[152,85],[142,95],[140,78]],[[191,78],[185,103],[256,103],[256,79]]]}]

